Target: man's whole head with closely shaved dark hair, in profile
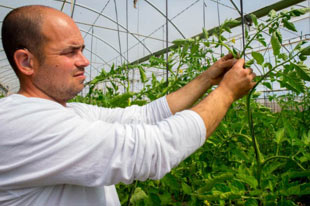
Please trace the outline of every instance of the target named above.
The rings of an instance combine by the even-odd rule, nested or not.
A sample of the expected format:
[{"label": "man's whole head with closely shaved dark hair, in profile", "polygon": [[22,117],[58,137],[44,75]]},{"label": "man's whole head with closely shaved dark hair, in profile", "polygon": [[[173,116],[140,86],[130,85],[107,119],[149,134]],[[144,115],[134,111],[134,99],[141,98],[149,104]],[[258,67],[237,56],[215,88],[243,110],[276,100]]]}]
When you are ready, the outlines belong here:
[{"label": "man's whole head with closely shaved dark hair, in profile", "polygon": [[3,22],[2,41],[20,93],[65,104],[83,89],[89,61],[80,30],[66,14],[45,6],[17,8]]}]

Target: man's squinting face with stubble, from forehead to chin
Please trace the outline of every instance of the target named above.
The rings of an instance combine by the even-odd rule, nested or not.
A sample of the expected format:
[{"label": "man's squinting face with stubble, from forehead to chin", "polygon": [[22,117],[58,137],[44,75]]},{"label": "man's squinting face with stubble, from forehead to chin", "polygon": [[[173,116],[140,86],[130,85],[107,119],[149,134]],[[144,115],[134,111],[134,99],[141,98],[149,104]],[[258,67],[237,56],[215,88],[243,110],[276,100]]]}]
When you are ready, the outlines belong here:
[{"label": "man's squinting face with stubble, from forehead to chin", "polygon": [[35,61],[32,82],[47,96],[65,103],[84,88],[84,67],[89,65],[82,54],[84,40],[75,23],[58,13],[44,21],[42,33],[47,38],[44,61]]}]

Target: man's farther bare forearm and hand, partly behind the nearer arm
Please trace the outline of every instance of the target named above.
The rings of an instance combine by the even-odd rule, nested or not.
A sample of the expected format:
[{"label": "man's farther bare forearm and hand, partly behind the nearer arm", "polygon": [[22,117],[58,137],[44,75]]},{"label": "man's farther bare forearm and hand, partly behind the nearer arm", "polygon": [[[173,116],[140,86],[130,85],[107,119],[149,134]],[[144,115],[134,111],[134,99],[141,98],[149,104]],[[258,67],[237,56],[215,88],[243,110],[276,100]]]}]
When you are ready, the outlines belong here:
[{"label": "man's farther bare forearm and hand, partly behind the nearer arm", "polygon": [[167,95],[172,114],[190,108],[211,86],[219,84],[236,59],[228,54],[179,90]]}]

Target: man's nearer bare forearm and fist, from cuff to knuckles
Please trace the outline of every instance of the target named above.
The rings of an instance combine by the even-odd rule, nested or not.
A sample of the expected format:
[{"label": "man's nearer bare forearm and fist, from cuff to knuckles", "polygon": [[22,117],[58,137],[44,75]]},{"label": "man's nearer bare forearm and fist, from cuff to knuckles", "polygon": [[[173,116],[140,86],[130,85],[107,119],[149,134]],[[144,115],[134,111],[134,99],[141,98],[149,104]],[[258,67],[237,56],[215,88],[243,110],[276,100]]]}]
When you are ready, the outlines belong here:
[{"label": "man's nearer bare forearm and fist, from cuff to knuckles", "polygon": [[243,65],[244,60],[238,60],[224,75],[218,88],[191,109],[203,119],[207,130],[206,138],[216,129],[230,105],[247,94],[255,85],[253,82],[255,74],[252,69],[244,69]]}]

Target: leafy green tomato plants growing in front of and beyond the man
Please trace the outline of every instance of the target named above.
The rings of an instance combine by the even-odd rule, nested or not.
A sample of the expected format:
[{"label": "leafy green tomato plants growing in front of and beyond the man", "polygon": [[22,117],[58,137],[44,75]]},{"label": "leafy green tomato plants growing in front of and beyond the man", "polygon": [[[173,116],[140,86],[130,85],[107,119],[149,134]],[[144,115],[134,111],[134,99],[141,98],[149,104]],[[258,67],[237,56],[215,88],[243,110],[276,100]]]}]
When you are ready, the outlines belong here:
[{"label": "leafy green tomato plants growing in front of and beyond the man", "polygon": [[[147,63],[112,66],[88,83],[88,95],[74,101],[104,107],[144,105],[176,91],[207,70],[219,55],[219,48],[236,58],[247,56],[246,66],[256,68],[256,86],[247,97],[233,103],[224,120],[204,146],[161,180],[117,185],[122,205],[308,205],[310,204],[310,55],[308,42],[300,41],[287,50],[282,46],[281,28],[297,32],[291,19],[309,9],[270,11],[265,21],[250,16],[255,33],[245,32],[242,51],[227,40],[235,20],[225,21],[212,35],[176,40],[178,45]],[[266,61],[253,45],[268,49],[274,61]],[[222,50],[222,49],[221,49]],[[168,65],[169,78],[159,78],[151,69]],[[185,69],[186,68],[186,69]],[[143,88],[131,90],[129,73],[139,71]],[[259,104],[258,85],[272,90],[273,82],[289,92],[271,96],[280,112]],[[106,85],[106,92],[97,89]],[[208,91],[207,93],[211,92]],[[207,94],[206,94],[207,95]],[[303,99],[300,101],[300,97]],[[298,100],[297,100],[298,99]]]}]

